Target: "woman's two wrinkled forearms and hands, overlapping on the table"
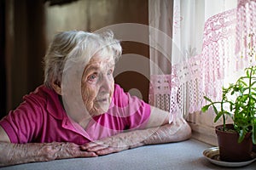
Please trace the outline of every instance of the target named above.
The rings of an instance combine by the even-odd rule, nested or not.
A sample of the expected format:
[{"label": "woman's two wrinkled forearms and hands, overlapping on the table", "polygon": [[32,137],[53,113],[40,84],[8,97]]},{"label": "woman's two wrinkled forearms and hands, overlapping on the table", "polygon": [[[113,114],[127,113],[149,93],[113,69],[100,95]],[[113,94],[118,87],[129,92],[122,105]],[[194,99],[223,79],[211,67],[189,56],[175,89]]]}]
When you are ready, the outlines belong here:
[{"label": "woman's two wrinkled forearms and hands, overlapping on the table", "polygon": [[0,167],[32,161],[104,156],[145,144],[182,141],[189,139],[190,135],[191,129],[188,123],[183,118],[177,118],[175,122],[161,127],[119,133],[115,136],[84,145],[58,142],[43,144],[11,144],[0,142]]}]

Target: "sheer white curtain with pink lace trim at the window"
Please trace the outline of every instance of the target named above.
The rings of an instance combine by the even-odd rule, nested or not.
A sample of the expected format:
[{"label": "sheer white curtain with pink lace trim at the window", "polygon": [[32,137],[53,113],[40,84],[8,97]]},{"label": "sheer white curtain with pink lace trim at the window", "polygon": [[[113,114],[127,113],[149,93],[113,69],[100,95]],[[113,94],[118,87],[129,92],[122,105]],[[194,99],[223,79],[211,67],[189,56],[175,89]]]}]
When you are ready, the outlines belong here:
[{"label": "sheer white curtain with pink lace trim at the window", "polygon": [[150,48],[149,103],[183,116],[200,111],[204,95],[219,99],[224,79],[247,66],[236,55],[246,54],[246,36],[255,31],[255,1],[148,4],[149,42],[156,47]]}]

